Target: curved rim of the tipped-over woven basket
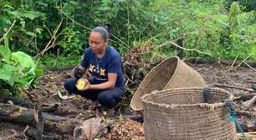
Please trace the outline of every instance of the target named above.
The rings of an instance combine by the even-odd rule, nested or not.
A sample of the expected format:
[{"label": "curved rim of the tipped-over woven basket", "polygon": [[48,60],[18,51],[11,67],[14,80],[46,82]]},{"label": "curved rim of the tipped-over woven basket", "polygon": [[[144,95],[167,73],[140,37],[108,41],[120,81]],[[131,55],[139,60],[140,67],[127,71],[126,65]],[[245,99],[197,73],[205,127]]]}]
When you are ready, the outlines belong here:
[{"label": "curved rim of the tipped-over woven basket", "polygon": [[[149,77],[149,75],[152,73],[152,72],[155,72],[156,71],[156,68],[159,67],[162,63],[165,63],[165,62],[168,62],[168,61],[171,61],[172,59],[176,59],[177,60],[177,67],[178,67],[178,62],[180,61],[180,58],[177,57],[177,56],[173,56],[173,57],[169,57],[169,58],[166,58],[165,60],[161,61],[158,65],[156,65],[156,67],[153,67],[151,69],[150,72],[147,73],[146,77],[143,78],[142,82],[147,78]],[[177,67],[176,67],[176,70],[175,72],[177,72]],[[174,72],[174,73],[175,73]],[[141,82],[141,83],[142,83]],[[136,107],[136,102],[135,102],[135,98],[138,97],[138,91],[141,89],[141,87],[144,86],[144,84],[140,84],[140,86],[136,89],[136,92],[133,94],[132,98],[131,98],[131,109],[133,109],[134,111],[141,111],[143,110],[143,107]],[[143,96],[143,95],[142,95]],[[142,97],[141,96],[141,97]],[[139,101],[141,101],[141,97],[139,99]],[[142,101],[141,101],[141,104],[142,104]]]}]

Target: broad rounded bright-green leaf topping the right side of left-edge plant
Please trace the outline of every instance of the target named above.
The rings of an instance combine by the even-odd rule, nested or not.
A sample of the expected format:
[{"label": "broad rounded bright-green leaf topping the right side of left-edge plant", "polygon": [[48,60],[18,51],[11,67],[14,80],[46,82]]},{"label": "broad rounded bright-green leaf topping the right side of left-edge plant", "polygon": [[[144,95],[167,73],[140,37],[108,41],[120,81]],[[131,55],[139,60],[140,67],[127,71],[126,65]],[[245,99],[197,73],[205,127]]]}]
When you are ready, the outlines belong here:
[{"label": "broad rounded bright-green leaf topping the right side of left-edge plant", "polygon": [[24,52],[13,52],[11,54],[11,59],[19,64],[21,67],[36,67],[32,57]]}]

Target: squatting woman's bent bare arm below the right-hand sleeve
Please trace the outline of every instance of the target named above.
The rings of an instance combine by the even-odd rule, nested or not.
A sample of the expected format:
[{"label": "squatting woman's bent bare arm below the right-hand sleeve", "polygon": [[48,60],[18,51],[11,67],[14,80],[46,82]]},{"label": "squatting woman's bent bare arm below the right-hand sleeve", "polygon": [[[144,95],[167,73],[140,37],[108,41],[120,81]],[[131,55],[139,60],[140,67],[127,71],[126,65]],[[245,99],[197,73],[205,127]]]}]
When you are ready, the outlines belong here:
[{"label": "squatting woman's bent bare arm below the right-hand sleeve", "polygon": [[115,87],[115,82],[117,78],[117,73],[108,73],[108,81],[102,82],[100,84],[88,84],[84,90],[104,90],[111,89]]}]

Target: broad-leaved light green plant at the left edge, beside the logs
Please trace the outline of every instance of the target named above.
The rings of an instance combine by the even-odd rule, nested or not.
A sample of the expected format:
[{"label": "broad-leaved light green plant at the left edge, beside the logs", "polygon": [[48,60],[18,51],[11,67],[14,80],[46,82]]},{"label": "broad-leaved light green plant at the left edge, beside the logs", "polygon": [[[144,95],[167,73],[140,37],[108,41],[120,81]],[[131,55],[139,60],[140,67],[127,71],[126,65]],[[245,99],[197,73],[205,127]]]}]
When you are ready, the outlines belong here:
[{"label": "broad-leaved light green plant at the left edge, beside the logs", "polygon": [[4,38],[4,45],[0,46],[0,87],[18,90],[18,87],[28,88],[36,86],[36,78],[43,74],[42,69],[36,68],[32,57],[24,52],[11,52],[8,38]]}]

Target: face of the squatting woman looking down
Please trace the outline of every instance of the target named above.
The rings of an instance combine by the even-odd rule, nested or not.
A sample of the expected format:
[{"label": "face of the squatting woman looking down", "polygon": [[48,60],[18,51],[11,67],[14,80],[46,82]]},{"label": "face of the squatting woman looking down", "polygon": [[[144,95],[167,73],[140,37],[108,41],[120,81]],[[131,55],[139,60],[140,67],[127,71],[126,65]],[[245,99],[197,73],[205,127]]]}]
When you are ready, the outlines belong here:
[{"label": "face of the squatting woman looking down", "polygon": [[107,44],[108,41],[105,41],[100,32],[90,32],[90,47],[93,52],[103,52]]}]

